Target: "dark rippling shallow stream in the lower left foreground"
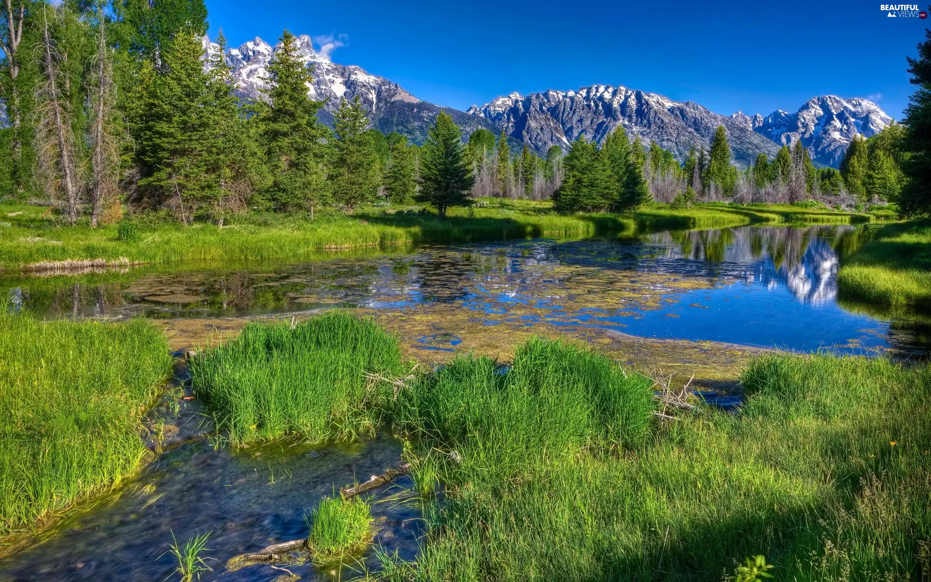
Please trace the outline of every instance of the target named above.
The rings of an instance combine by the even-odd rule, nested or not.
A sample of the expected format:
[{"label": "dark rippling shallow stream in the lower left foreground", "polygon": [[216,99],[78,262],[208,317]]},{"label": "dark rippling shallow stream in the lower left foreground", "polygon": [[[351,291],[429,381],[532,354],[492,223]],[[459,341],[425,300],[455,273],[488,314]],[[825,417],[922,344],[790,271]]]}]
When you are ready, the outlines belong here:
[{"label": "dark rippling shallow stream in the lower left foreground", "polygon": [[[351,445],[311,446],[280,440],[231,451],[207,442],[162,455],[113,494],[75,508],[42,543],[0,560],[0,580],[151,580],[175,567],[164,555],[172,541],[210,532],[202,556],[213,573],[205,580],[274,580],[285,574],[268,564],[229,572],[236,555],[305,537],[304,515],[323,495],[354,480],[368,480],[398,465],[401,447],[390,435]],[[375,490],[372,516],[382,528],[374,545],[405,560],[416,555],[423,534],[419,505],[401,492],[412,481]],[[384,518],[384,519],[379,519]],[[371,560],[373,548],[359,556]],[[366,560],[368,559],[368,560]],[[356,562],[325,566],[271,562],[304,580],[348,579]],[[172,578],[176,579],[176,578]]]}]

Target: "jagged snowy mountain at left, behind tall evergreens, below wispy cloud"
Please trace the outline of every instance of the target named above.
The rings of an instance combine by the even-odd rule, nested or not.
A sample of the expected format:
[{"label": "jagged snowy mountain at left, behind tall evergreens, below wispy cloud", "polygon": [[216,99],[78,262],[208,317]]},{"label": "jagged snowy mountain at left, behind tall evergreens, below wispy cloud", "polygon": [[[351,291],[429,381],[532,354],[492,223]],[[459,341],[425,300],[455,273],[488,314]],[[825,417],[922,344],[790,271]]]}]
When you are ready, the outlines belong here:
[{"label": "jagged snowy mountain at left, behind tall evergreens, below wispy cloud", "polygon": [[[204,45],[209,54],[215,55],[219,50],[206,37]],[[339,108],[342,98],[352,100],[358,96],[369,111],[372,127],[385,133],[398,131],[417,143],[424,142],[426,129],[433,125],[440,110],[452,115],[466,134],[479,128],[494,129],[484,119],[421,101],[397,83],[366,73],[356,65],[332,62],[329,54],[314,49],[307,34],[297,36],[297,47],[301,59],[314,68],[314,82],[308,86],[307,94],[312,99],[326,102],[319,117],[327,124],[332,123],[332,114]],[[277,49],[278,46],[273,48],[256,36],[226,52],[226,62],[233,67],[239,97],[261,99],[261,89],[267,85],[264,80],[268,75],[267,65]]]}]

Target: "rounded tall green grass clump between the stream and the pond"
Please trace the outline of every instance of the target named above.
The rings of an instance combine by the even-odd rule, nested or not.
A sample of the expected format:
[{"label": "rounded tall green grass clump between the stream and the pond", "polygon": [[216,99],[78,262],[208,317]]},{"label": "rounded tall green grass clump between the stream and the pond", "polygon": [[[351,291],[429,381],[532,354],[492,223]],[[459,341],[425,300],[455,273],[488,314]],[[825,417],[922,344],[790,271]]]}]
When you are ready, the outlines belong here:
[{"label": "rounded tall green grass clump between the stream and the pond", "polygon": [[[337,311],[302,322],[250,323],[192,360],[193,386],[234,444],[298,435],[369,434],[385,377],[403,375],[398,341],[369,320]],[[388,388],[390,393],[390,388]]]}]

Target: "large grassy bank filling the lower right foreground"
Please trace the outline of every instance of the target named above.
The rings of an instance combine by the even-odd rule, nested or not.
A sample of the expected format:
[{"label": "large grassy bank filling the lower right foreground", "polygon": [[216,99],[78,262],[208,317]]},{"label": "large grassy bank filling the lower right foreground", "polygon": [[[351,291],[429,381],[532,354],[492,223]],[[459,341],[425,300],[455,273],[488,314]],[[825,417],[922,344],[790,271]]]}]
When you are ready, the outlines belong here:
[{"label": "large grassy bank filling the lower right foreground", "polygon": [[[307,325],[275,330],[305,335]],[[266,358],[230,360],[225,375]],[[341,374],[358,382],[353,370],[331,384]],[[649,380],[533,340],[509,369],[460,357],[397,391],[371,385],[381,396],[353,401],[410,439],[429,531],[416,566],[388,561],[379,576],[718,580],[761,553],[777,579],[927,576],[931,370],[767,356],[743,384],[740,414],[660,421]],[[248,377],[236,390],[250,386]],[[331,406],[326,385],[304,390]]]}]

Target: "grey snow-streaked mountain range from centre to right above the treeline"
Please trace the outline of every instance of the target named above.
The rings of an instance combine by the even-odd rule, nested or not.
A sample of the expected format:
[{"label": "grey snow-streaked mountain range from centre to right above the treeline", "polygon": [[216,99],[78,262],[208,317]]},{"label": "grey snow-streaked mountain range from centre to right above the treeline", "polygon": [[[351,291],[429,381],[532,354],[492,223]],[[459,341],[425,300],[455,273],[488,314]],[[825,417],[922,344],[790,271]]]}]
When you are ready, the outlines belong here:
[{"label": "grey snow-streaked mountain range from centre to right above the treeline", "polygon": [[546,151],[566,148],[579,136],[601,142],[618,125],[643,142],[657,142],[684,159],[694,146],[708,149],[719,125],[727,129],[735,162],[747,167],[759,153],[775,156],[782,144],[802,139],[816,163],[836,167],[855,132],[870,137],[892,118],[865,99],[816,97],[796,114],[749,117],[718,115],[695,102],[673,102],[656,93],[593,85],[577,91],[547,90],[521,97],[511,93],[468,109],[515,140]]}]

